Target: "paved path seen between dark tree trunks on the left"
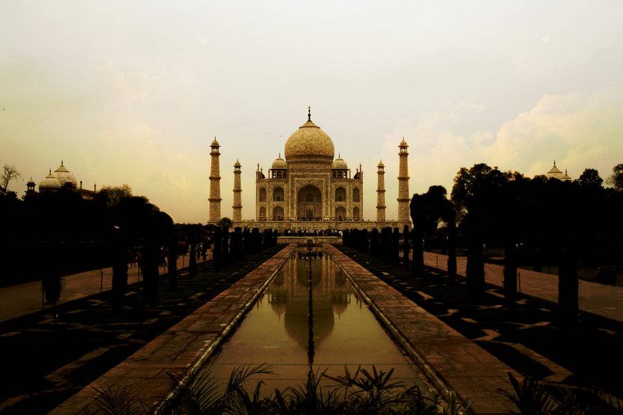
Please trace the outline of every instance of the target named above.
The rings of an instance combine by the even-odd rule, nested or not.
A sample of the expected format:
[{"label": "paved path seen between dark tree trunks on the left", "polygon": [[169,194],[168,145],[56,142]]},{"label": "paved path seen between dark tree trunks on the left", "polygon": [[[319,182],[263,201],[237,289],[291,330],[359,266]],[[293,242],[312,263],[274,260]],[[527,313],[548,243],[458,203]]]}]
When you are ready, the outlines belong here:
[{"label": "paved path seen between dark tree trunks on the left", "polygon": [[[199,260],[201,262],[202,259]],[[177,259],[177,268],[188,266],[188,255]],[[160,275],[166,273],[165,267],[159,267]],[[138,266],[127,269],[127,282],[132,284],[143,279],[138,274]],[[85,271],[84,273],[66,275],[62,279],[62,291],[58,304],[73,301],[82,297],[108,291],[112,286],[112,267]],[[46,306],[48,307],[48,306]],[[27,282],[0,288],[0,322],[11,320],[42,309],[41,281]]]}]

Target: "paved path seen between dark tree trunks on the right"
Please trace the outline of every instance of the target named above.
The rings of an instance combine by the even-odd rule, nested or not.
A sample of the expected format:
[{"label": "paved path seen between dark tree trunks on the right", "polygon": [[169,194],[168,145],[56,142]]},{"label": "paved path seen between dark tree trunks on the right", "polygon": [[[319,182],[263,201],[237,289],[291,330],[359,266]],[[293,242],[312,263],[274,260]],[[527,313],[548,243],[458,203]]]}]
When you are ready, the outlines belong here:
[{"label": "paved path seen between dark tree trunks on the right", "polygon": [[[424,252],[424,265],[439,270],[448,269],[447,255]],[[465,277],[467,257],[457,257],[456,272]],[[504,267],[485,264],[485,280],[489,284],[503,286]],[[521,293],[550,302],[558,302],[558,275],[537,273],[531,270],[518,270]],[[623,287],[597,284],[579,280],[579,308],[581,311],[623,322]]]}]

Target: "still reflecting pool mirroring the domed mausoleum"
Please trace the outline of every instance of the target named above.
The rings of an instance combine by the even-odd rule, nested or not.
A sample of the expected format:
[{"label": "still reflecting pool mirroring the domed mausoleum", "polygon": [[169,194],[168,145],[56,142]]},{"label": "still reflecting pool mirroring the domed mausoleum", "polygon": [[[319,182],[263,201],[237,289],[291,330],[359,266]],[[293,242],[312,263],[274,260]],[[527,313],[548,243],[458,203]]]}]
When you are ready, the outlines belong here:
[{"label": "still reflecting pool mirroring the domed mausoleum", "polygon": [[212,376],[227,379],[240,365],[268,363],[276,375],[256,377],[267,383],[268,392],[303,382],[310,367],[341,376],[344,365],[351,371],[374,365],[384,371],[394,368],[395,378],[409,385],[415,381],[426,391],[422,375],[383,331],[333,259],[300,255],[296,252],[288,259],[211,360]]}]

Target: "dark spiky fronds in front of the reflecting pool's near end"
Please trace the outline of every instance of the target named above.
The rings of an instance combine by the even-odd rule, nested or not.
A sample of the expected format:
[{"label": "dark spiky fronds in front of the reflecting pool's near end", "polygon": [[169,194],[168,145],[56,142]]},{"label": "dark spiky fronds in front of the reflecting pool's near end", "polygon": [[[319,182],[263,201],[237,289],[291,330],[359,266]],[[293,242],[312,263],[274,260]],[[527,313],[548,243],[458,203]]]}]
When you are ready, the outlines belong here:
[{"label": "dark spiky fronds in front of the reflecting pool's near end", "polygon": [[[250,393],[252,376],[274,374],[269,365],[242,366],[234,369],[225,385],[219,384],[208,371],[197,371],[186,378],[170,375],[175,382],[174,398],[165,413],[170,414],[413,414],[460,415],[469,403],[458,400],[453,391],[444,396],[424,396],[417,386],[405,387],[392,379],[394,370],[372,371],[358,367],[354,374],[345,367],[344,376],[328,376],[325,371],[309,371],[299,387],[275,389],[274,394],[262,393],[262,380]],[[334,385],[322,386],[321,380]],[[96,412],[106,415],[141,414],[147,412],[136,396],[127,391],[102,389],[96,400]],[[87,412],[89,413],[89,412]]]}]

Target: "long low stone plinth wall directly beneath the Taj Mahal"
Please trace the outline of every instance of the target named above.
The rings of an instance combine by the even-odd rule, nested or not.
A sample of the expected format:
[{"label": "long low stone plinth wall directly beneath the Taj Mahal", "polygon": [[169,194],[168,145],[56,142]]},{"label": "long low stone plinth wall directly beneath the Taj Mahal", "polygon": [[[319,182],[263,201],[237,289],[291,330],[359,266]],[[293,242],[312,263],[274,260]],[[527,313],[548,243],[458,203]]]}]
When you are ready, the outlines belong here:
[{"label": "long low stone plinth wall directly beneath the Taj Mahal", "polygon": [[410,221],[386,221],[386,222],[371,222],[371,221],[240,221],[234,222],[233,227],[240,226],[240,228],[259,228],[260,231],[264,229],[273,229],[283,232],[285,230],[344,230],[344,229],[367,229],[368,231],[377,228],[398,228],[402,232],[404,225],[411,227]]}]

